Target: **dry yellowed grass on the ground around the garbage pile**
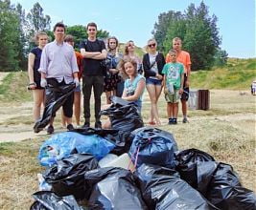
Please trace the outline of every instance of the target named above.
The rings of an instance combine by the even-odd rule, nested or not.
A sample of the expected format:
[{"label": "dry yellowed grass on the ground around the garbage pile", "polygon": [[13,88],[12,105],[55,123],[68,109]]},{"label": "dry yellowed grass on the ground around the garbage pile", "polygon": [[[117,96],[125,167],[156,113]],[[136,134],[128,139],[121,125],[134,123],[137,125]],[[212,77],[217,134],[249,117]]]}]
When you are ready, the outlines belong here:
[{"label": "dry yellowed grass on the ground around the garbage pile", "polygon": [[[212,155],[217,161],[231,164],[244,186],[255,191],[255,99],[256,96],[248,92],[241,95],[239,91],[211,91],[209,111],[189,111],[188,124],[181,123],[179,114],[178,124],[171,126],[167,125],[166,103],[161,96],[160,129],[174,134],[179,149],[198,148]],[[19,117],[16,115],[19,106],[13,105],[17,104],[0,105],[1,116],[7,113],[11,116],[1,117],[0,122],[10,132],[22,132],[23,127],[28,127],[26,123],[30,121],[29,117],[32,117],[29,112],[31,107],[19,105],[22,110]],[[147,94],[144,96],[143,106],[143,118],[147,123],[150,107]],[[22,123],[22,119],[25,122]],[[58,123],[59,119],[56,124]],[[38,148],[48,137],[38,136],[33,140],[0,144],[0,209],[30,207],[33,202],[31,195],[37,191],[36,174],[43,171],[37,162]]]}]

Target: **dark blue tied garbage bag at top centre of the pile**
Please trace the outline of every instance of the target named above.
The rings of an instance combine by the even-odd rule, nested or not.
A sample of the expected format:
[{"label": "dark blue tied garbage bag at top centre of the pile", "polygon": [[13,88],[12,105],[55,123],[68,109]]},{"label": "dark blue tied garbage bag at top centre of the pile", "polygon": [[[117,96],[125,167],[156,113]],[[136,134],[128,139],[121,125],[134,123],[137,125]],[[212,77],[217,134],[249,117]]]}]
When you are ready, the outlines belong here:
[{"label": "dark blue tied garbage bag at top centre of the pile", "polygon": [[175,137],[157,128],[143,127],[132,132],[134,136],[129,156],[135,166],[142,163],[175,167]]}]

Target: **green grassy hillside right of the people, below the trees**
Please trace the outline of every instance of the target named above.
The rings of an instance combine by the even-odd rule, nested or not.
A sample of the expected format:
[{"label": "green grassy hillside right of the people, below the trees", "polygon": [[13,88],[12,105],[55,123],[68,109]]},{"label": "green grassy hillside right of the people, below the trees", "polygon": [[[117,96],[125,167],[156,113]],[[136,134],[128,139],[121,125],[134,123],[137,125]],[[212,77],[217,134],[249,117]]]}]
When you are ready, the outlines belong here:
[{"label": "green grassy hillside right of the people, below the trees", "polygon": [[256,80],[256,58],[229,58],[221,68],[193,72],[192,88],[248,90]]}]

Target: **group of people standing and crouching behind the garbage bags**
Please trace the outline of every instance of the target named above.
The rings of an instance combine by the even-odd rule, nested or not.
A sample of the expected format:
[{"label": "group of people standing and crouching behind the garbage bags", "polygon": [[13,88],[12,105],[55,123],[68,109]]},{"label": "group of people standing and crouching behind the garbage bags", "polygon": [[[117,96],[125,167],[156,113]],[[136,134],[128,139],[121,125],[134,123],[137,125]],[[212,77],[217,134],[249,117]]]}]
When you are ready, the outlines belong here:
[{"label": "group of people standing and crouching behind the garbage bags", "polygon": [[[90,127],[90,98],[93,89],[95,128],[109,128],[110,122],[102,125],[100,111],[102,94],[105,92],[106,104],[110,104],[110,96],[117,95],[133,102],[138,112],[142,109],[142,95],[147,89],[151,99],[151,125],[161,125],[157,101],[164,88],[167,101],[169,124],[177,123],[178,101],[181,99],[183,123],[187,120],[186,101],[189,96],[190,55],[181,50],[181,40],[175,37],[173,49],[166,55],[157,52],[155,39],[147,43],[148,52],[141,59],[135,54],[133,41],[128,41],[125,52],[120,53],[118,39],[109,37],[107,42],[97,38],[97,25],[86,26],[88,38],[80,44],[81,52],[74,51],[74,38],[65,34],[65,26],[57,23],[54,27],[55,40],[48,43],[45,32],[38,32],[35,40],[38,46],[29,54],[28,72],[29,89],[33,90],[34,118],[40,118],[40,108],[47,106],[49,100],[46,86],[54,83],[58,86],[75,84],[71,94],[62,105],[62,125],[73,130],[73,104],[76,123],[81,119],[81,90],[83,94],[82,127]],[[82,80],[82,87],[80,84]],[[46,89],[45,89],[46,88]],[[46,96],[45,96],[46,95]],[[47,128],[47,133],[54,133],[54,117]]]}]

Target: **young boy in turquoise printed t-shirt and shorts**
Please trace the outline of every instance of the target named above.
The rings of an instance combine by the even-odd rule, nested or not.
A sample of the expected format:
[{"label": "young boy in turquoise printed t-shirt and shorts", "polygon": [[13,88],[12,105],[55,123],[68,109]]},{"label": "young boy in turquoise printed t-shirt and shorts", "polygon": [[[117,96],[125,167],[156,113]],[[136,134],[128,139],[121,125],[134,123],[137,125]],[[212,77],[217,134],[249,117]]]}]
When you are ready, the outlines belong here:
[{"label": "young boy in turquoise printed t-shirt and shorts", "polygon": [[176,62],[177,52],[169,52],[171,63],[164,66],[164,94],[167,102],[167,113],[169,124],[177,123],[178,100],[183,93],[184,67],[183,64]]}]

